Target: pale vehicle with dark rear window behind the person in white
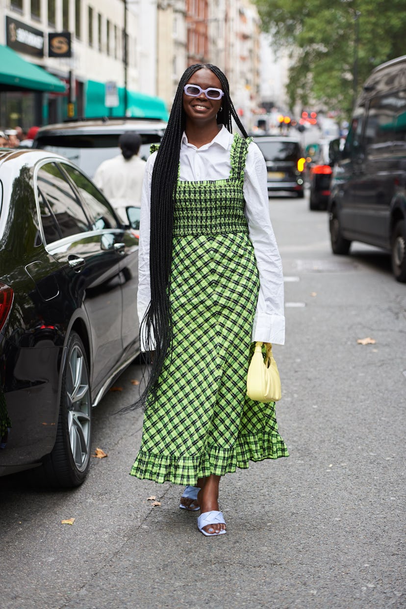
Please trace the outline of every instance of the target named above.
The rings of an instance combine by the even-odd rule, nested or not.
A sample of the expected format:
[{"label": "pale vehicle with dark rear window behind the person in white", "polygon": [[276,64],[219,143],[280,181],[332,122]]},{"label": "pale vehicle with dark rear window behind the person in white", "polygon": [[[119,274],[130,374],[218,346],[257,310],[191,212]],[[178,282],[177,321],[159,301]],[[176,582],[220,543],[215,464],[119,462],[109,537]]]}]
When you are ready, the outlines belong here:
[{"label": "pale vehicle with dark rear window behind the person in white", "polygon": [[142,139],[140,157],[146,160],[150,145],[161,141],[165,121],[143,118],[102,118],[69,121],[41,127],[33,147],[61,154],[93,177],[97,167],[120,154],[119,136],[136,131]]}]

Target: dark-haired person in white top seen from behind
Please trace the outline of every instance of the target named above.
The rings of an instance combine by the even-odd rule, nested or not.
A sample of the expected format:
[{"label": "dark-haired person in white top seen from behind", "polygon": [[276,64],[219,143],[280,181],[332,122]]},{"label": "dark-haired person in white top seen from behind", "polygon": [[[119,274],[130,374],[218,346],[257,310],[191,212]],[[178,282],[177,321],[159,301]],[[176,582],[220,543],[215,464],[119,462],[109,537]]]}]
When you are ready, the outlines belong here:
[{"label": "dark-haired person in white top seen from behind", "polygon": [[122,221],[128,224],[126,206],[140,205],[146,163],[139,157],[139,133],[122,133],[119,146],[121,154],[103,161],[97,167],[93,181],[106,195]]}]

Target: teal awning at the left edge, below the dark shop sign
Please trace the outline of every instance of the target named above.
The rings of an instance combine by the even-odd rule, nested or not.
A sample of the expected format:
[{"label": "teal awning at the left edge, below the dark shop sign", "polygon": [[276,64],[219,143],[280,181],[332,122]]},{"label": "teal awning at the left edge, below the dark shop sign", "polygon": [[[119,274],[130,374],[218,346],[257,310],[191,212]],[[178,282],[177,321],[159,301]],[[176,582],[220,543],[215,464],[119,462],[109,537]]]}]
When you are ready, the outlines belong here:
[{"label": "teal awning at the left edge, below the dark shop sign", "polygon": [[27,62],[8,46],[0,44],[0,90],[15,88],[31,91],[54,91],[64,93],[65,85],[40,66]]}]

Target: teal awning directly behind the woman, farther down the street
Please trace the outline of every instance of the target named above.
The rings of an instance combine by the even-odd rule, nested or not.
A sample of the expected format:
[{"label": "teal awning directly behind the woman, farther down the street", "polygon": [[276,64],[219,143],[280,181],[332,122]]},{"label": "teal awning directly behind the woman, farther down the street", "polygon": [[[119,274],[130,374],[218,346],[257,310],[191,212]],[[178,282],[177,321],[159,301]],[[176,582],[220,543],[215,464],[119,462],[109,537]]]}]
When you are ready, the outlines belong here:
[{"label": "teal awning directly behind the woman, farther down the street", "polygon": [[[86,117],[125,116],[124,88],[117,87],[119,105],[116,108],[105,106],[105,83],[88,80],[86,83]],[[159,118],[168,120],[168,110],[163,99],[127,90],[127,116],[136,118]]]}]

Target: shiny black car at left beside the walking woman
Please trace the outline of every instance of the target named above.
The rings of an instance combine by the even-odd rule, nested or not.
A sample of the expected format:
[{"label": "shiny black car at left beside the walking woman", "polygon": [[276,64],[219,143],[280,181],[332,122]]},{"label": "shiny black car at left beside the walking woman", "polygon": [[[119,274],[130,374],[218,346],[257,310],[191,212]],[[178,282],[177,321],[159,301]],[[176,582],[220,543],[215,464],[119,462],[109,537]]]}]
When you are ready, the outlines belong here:
[{"label": "shiny black car at left beside the walking woman", "polygon": [[0,149],[0,476],[74,487],[92,407],[139,353],[138,239],[70,161]]}]

